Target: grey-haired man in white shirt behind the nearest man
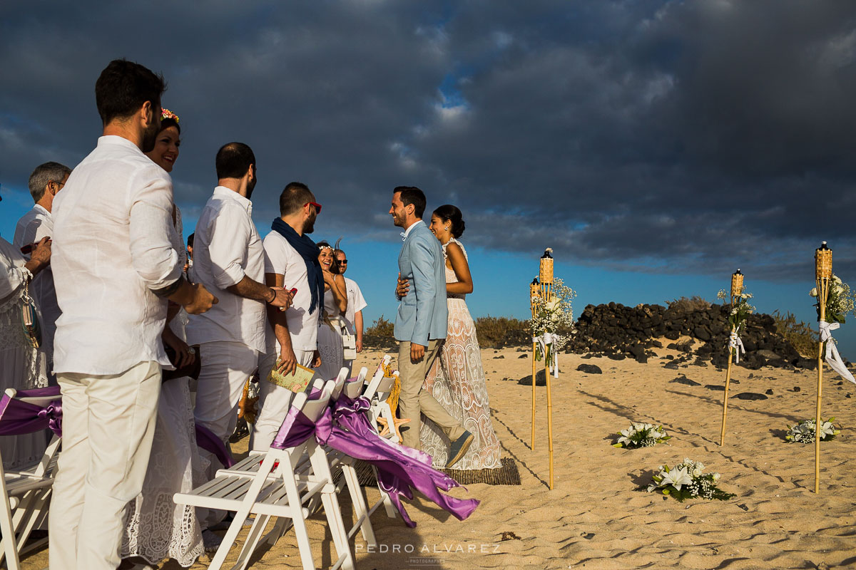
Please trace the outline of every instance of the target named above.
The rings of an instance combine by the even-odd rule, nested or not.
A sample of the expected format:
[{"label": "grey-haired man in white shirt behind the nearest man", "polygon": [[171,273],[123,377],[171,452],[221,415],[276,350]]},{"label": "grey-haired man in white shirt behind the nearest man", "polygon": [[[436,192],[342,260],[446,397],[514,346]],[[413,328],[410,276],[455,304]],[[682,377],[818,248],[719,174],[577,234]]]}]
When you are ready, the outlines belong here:
[{"label": "grey-haired man in white shirt behind the nearest man", "polygon": [[[30,174],[30,194],[33,196],[33,208],[21,216],[15,226],[15,238],[12,242],[21,248],[26,245],[38,244],[41,238],[50,238],[53,234],[53,218],[51,210],[56,192],[61,191],[68,180],[71,168],[59,162],[40,164]],[[48,359],[48,370],[51,371],[53,361],[53,338],[56,332],[56,319],[59,318],[59,305],[56,303],[56,289],[53,284],[51,266],[45,267],[33,278],[30,284],[30,294],[39,304],[42,312],[41,350],[45,351]]]}]

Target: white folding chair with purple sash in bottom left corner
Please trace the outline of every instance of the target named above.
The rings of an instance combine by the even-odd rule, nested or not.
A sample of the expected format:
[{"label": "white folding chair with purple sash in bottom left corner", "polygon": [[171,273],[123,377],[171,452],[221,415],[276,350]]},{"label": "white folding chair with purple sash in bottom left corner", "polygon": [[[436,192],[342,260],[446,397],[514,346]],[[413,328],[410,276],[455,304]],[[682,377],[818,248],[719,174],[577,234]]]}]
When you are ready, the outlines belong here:
[{"label": "white folding chair with purple sash in bottom left corner", "polygon": [[[60,398],[58,394],[20,397],[13,388],[6,390],[6,396],[39,408],[45,408]],[[0,421],[3,421],[2,414]],[[30,538],[33,528],[47,514],[59,444],[60,438],[53,436],[39,462],[16,471],[5,471],[3,457],[0,456],[0,492],[3,494],[3,500],[0,501],[0,562],[5,557],[9,570],[21,567],[21,555],[47,544],[47,538],[31,544],[27,544],[27,538]]]}]

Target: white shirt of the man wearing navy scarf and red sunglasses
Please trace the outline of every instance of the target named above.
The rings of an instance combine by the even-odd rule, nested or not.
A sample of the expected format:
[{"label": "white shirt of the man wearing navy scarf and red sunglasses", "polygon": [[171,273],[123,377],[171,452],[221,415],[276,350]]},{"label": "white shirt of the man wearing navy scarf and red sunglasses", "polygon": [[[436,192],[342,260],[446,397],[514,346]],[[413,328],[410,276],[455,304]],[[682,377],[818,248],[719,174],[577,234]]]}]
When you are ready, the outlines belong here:
[{"label": "white shirt of the man wearing navy scarf and red sunglasses", "polygon": [[[283,287],[297,289],[294,304],[285,312],[291,348],[306,351],[318,349],[318,307],[312,313],[309,312],[312,291],[309,290],[306,261],[280,232],[272,231],[265,236],[265,273],[278,273],[285,279]],[[324,299],[318,299],[318,304],[321,303],[324,303]],[[272,326],[269,326],[268,332],[271,338],[276,338]],[[280,348],[279,341],[276,341],[277,356]]]}]

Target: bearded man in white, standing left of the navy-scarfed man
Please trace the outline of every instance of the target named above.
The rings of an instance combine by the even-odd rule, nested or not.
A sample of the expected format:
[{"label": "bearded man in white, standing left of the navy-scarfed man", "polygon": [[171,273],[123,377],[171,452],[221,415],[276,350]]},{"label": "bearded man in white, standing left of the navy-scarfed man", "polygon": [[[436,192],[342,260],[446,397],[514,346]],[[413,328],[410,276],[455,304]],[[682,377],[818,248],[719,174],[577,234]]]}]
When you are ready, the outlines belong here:
[{"label": "bearded man in white, standing left of the navy-scarfed man", "polygon": [[[265,304],[288,309],[291,293],[265,285],[265,252],[250,202],[256,185],[253,150],[225,144],[216,166],[218,185],[196,224],[190,275],[216,291],[220,303],[190,317],[187,343],[199,344],[202,359],[194,416],[225,443],[235,430],[244,384],[266,351]],[[206,455],[213,475],[219,461]]]}]

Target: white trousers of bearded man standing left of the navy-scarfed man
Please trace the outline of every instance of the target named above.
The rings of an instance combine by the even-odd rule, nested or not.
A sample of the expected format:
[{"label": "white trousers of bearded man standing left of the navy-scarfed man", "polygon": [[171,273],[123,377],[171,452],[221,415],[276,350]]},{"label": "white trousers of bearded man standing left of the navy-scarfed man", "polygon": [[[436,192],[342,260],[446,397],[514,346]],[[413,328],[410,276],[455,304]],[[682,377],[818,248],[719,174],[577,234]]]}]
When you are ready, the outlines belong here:
[{"label": "white trousers of bearded man standing left of the navy-scarfed man", "polygon": [[[199,357],[202,368],[193,417],[197,424],[207,427],[226,443],[238,422],[241,392],[259,366],[259,353],[246,344],[216,341],[200,344]],[[202,450],[200,453],[207,454],[215,465],[220,464],[213,454]]]}]

